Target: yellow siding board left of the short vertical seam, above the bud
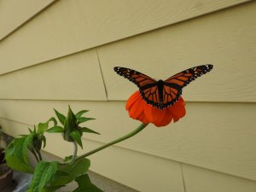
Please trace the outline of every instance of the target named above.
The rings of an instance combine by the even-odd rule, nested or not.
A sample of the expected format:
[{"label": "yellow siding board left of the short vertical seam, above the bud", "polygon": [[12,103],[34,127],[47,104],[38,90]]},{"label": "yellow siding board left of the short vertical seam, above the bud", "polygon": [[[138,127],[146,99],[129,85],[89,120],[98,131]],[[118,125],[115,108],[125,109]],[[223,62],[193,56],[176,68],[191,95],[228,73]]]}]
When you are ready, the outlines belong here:
[{"label": "yellow siding board left of the short vertical seam, above the bud", "polygon": [[0,92],[2,99],[107,100],[95,49],[3,74]]}]

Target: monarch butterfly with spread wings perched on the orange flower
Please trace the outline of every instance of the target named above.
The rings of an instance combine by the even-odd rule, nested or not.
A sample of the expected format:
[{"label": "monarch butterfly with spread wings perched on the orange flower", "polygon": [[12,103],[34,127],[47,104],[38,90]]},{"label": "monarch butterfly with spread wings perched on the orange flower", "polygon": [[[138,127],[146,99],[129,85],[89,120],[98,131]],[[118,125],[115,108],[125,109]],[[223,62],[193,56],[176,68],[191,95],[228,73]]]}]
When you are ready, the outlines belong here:
[{"label": "monarch butterfly with spread wings perched on the orange flower", "polygon": [[166,80],[154,80],[143,73],[125,67],[113,67],[113,70],[125,79],[137,84],[143,100],[155,108],[168,108],[172,106],[179,96],[183,87],[191,81],[212,70],[212,65],[191,67],[173,75]]}]

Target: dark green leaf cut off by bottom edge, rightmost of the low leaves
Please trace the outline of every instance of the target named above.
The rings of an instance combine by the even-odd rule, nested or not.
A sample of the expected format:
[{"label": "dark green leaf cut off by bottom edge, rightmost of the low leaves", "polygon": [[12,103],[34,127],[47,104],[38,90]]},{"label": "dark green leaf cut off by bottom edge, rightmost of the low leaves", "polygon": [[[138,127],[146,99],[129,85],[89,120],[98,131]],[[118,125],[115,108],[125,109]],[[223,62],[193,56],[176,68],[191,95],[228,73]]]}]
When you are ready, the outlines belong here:
[{"label": "dark green leaf cut off by bottom edge, rightmost of the low leaves", "polygon": [[90,182],[90,177],[88,174],[76,177],[75,181],[79,184],[79,187],[73,192],[103,192],[102,189],[97,188],[96,185]]}]

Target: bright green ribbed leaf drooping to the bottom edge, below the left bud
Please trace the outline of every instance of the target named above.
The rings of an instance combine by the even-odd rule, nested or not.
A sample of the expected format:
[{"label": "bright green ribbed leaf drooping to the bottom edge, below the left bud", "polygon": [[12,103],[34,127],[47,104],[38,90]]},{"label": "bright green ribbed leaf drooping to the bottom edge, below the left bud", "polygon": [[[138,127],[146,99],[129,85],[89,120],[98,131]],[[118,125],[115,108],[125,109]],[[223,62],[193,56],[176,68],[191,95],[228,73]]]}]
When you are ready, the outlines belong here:
[{"label": "bright green ribbed leaf drooping to the bottom edge, below the left bud", "polygon": [[36,166],[32,182],[29,185],[27,192],[44,191],[44,187],[51,182],[58,170],[57,161],[45,162],[40,161]]}]

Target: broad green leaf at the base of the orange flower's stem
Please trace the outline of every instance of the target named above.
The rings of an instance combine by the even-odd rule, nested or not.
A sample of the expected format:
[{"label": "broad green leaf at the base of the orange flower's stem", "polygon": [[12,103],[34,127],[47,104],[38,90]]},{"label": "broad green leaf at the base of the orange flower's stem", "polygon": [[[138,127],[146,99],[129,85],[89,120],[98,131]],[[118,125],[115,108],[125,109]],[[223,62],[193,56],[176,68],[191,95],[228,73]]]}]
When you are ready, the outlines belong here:
[{"label": "broad green leaf at the base of the orange flower's stem", "polygon": [[[58,172],[56,172],[55,178],[49,184],[49,187],[66,185],[67,183],[72,182],[74,178],[79,177],[85,172],[88,172],[89,167],[90,160],[85,158],[81,160],[76,160],[73,164],[66,164],[64,166],[59,165],[58,171],[62,173],[58,174]],[[67,175],[63,175],[63,172],[66,172]]]}]

